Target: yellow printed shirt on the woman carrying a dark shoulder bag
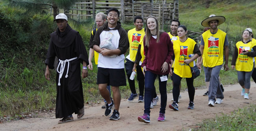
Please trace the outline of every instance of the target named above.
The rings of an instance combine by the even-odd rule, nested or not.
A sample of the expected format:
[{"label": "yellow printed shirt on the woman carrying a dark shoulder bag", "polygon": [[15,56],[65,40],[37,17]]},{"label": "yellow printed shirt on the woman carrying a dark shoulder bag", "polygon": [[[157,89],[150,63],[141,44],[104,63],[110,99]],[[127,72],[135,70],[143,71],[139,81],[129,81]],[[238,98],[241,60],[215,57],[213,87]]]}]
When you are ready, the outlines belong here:
[{"label": "yellow printed shirt on the woman carrying a dark shoulder bag", "polygon": [[191,38],[187,38],[185,42],[180,42],[180,40],[173,42],[173,51],[175,55],[173,72],[182,78],[192,77],[190,67],[194,67],[195,60],[189,63],[190,67],[184,63],[184,60],[185,58],[190,59],[188,55],[193,54],[195,44],[197,43]]}]

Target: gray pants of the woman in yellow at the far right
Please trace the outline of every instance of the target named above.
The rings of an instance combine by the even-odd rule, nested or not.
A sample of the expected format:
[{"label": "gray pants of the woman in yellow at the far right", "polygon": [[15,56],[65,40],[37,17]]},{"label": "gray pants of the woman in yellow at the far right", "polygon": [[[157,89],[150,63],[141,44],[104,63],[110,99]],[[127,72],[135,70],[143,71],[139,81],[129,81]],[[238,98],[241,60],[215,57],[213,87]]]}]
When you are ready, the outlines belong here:
[{"label": "gray pants of the woman in yellow at the far right", "polygon": [[[253,67],[254,67],[254,62],[253,62]],[[245,86],[246,89],[250,89],[250,76],[252,75],[252,71],[246,72],[246,71],[237,71],[237,78],[238,82],[241,86]]]}]

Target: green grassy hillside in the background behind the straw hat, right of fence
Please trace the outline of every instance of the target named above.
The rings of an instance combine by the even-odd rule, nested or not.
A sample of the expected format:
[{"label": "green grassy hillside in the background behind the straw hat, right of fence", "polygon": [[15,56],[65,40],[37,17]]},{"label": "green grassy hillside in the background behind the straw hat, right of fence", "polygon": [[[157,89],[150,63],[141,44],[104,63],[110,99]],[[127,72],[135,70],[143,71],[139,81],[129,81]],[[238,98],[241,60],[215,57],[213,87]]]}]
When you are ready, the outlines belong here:
[{"label": "green grassy hillside in the background behind the straw hat, right of fence", "polygon": [[227,33],[229,42],[236,44],[244,29],[256,32],[255,7],[254,0],[180,0],[179,20],[188,30],[202,32],[202,20],[211,14],[224,16],[226,21],[218,28]]}]

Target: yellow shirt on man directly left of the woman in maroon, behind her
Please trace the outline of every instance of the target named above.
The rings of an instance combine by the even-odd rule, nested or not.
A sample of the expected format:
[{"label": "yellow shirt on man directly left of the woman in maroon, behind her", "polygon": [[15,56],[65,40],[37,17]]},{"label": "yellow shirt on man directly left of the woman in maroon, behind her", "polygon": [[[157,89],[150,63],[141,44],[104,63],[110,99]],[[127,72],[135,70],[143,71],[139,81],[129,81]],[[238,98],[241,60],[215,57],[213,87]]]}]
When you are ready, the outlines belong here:
[{"label": "yellow shirt on man directly left of the woman in maroon, behind her", "polygon": [[142,28],[140,31],[136,31],[136,28],[134,28],[129,30],[127,35],[130,44],[130,60],[134,62],[138,51],[139,43],[141,39],[143,39],[143,37],[145,36],[145,31],[144,28]]}]

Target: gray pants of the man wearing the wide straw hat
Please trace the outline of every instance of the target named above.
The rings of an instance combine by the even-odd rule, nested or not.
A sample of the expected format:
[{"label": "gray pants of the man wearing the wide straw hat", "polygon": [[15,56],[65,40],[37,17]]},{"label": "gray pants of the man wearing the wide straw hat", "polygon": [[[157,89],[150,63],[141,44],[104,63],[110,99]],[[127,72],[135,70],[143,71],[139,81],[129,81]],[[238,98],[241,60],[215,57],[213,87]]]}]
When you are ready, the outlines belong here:
[{"label": "gray pants of the man wearing the wide straw hat", "polygon": [[216,98],[224,98],[223,92],[221,90],[221,85],[219,84],[219,72],[221,70],[222,65],[215,67],[207,67],[208,72],[210,74],[210,86],[208,89],[208,100],[212,100],[215,102]]}]

